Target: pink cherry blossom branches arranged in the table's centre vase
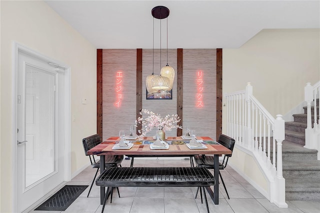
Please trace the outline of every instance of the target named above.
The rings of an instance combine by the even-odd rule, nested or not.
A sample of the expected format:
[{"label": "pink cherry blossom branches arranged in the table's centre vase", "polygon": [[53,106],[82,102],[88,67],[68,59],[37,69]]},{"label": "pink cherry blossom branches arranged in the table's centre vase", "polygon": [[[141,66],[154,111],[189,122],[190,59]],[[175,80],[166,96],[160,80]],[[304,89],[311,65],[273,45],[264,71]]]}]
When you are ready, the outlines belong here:
[{"label": "pink cherry blossom branches arranged in the table's centre vase", "polygon": [[161,117],[160,114],[156,114],[147,109],[142,109],[140,114],[148,114],[146,118],[142,116],[138,117],[135,120],[135,126],[137,127],[138,123],[142,124],[142,128],[138,130],[139,138],[143,137],[147,132],[151,131],[153,128],[157,128],[163,131],[171,130],[172,128],[182,128],[182,126],[177,123],[180,121],[180,118],[177,114],[166,115]]}]

